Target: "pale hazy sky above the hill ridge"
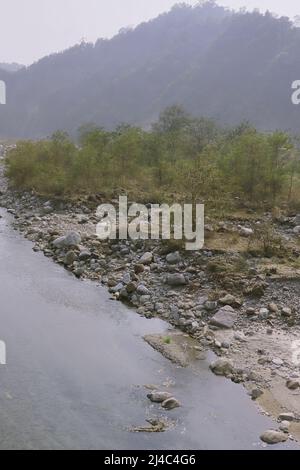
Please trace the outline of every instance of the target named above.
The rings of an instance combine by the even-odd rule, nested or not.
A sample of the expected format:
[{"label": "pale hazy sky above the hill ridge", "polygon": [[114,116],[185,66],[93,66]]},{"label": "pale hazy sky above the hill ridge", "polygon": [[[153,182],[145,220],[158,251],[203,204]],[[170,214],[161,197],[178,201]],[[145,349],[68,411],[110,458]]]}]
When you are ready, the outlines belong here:
[{"label": "pale hazy sky above the hill ridge", "polygon": [[[176,0],[0,0],[0,62],[29,64],[82,38],[111,37],[168,10]],[[197,0],[186,0],[194,5]],[[299,0],[219,0],[233,8],[300,14]],[[298,7],[298,8],[297,8]]]}]

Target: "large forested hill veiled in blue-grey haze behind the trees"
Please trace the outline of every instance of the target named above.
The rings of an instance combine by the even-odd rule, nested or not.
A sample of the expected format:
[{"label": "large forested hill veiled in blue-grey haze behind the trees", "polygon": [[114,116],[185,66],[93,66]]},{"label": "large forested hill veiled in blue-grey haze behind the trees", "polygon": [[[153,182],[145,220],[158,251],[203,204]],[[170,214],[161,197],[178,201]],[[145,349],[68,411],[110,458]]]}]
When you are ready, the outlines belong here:
[{"label": "large forested hill veiled in blue-grey haze behind the trees", "polygon": [[41,137],[93,122],[148,126],[168,105],[220,123],[300,130],[291,83],[300,79],[300,29],[271,14],[212,2],[170,12],[111,40],[45,57],[7,82],[0,137]]}]

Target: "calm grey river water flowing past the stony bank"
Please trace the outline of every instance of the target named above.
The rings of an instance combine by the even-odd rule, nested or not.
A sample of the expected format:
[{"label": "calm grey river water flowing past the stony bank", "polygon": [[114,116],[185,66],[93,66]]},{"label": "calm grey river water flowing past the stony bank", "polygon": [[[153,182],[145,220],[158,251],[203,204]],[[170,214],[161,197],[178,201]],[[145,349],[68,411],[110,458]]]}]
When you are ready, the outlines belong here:
[{"label": "calm grey river water flowing past the stony bank", "polygon": [[[242,387],[215,377],[209,360],[196,371],[171,364],[142,339],[167,324],[34,253],[0,215],[0,449],[262,448],[274,423]],[[182,408],[161,412],[146,398],[144,384],[165,382]],[[128,431],[161,415],[176,425]]]}]

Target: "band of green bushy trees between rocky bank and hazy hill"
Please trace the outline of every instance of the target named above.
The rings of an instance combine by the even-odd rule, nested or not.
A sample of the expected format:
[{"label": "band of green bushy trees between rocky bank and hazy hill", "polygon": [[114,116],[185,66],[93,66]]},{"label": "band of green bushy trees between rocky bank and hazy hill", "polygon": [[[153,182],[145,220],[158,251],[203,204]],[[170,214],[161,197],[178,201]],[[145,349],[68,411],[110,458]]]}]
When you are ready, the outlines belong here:
[{"label": "band of green bushy trees between rocky bank and hazy hill", "polygon": [[295,204],[299,172],[297,140],[286,133],[261,133],[247,123],[224,129],[178,106],[162,112],[150,131],[86,125],[78,142],[56,132],[49,140],[19,142],[7,157],[7,175],[21,190],[57,196],[123,191],[151,202],[169,195]]}]

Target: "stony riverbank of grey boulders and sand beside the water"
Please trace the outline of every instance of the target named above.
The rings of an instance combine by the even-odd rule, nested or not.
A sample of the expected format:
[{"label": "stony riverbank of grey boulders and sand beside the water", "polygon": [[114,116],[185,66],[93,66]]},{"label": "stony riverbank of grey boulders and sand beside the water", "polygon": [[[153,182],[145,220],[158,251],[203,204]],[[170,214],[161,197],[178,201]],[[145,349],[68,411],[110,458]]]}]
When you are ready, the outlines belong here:
[{"label": "stony riverbank of grey boulders and sand beside the water", "polygon": [[[212,349],[219,357],[212,372],[243,383],[278,419],[276,432],[262,436],[264,442],[281,442],[289,433],[300,438],[300,215],[208,218],[200,252],[172,242],[103,242],[96,236],[101,195],[46,200],[8,189],[3,167],[1,172],[0,205],[34,251],[78,278],[107,286],[112,299],[140,315],[168,321],[192,338],[192,360]],[[272,227],[269,242],[282,245],[283,256],[259,251],[261,239],[254,234],[265,223]],[[172,334],[146,340],[186,365],[186,357],[173,351]]]}]

